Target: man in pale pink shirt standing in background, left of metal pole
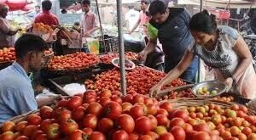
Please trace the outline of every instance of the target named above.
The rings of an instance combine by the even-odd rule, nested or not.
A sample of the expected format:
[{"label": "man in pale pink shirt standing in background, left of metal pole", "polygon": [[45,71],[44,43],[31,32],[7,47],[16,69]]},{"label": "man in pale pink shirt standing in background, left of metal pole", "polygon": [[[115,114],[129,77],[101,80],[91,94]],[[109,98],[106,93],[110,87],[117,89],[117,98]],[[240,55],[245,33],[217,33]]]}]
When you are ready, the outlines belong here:
[{"label": "man in pale pink shirt standing in background, left of metal pole", "polygon": [[84,14],[82,15],[81,25],[83,28],[83,36],[91,36],[91,34],[99,29],[99,22],[96,14],[90,10],[90,0],[82,1],[82,9]]}]

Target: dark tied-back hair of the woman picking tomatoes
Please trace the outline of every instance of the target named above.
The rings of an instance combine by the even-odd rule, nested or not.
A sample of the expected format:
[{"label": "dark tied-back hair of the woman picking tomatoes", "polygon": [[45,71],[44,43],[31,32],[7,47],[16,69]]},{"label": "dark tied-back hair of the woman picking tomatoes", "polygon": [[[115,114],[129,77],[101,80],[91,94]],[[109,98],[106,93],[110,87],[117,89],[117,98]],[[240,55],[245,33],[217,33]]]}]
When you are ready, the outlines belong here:
[{"label": "dark tied-back hair of the woman picking tomatoes", "polygon": [[217,31],[216,16],[203,10],[192,16],[189,22],[190,31],[202,31],[207,34],[213,34]]}]

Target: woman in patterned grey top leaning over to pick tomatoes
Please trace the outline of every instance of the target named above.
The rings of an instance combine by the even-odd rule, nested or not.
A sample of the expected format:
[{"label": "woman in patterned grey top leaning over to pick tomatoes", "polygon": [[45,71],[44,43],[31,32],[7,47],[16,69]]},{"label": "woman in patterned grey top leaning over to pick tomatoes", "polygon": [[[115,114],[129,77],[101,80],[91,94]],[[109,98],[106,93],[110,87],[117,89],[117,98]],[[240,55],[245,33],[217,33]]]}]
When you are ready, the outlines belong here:
[{"label": "woman in patterned grey top leaning over to pick tomatoes", "polygon": [[215,77],[223,81],[234,93],[253,99],[256,95],[256,74],[253,57],[239,32],[229,26],[217,26],[215,15],[207,11],[195,14],[189,23],[194,43],[187,48],[183,59],[166,77],[151,88],[151,96],[161,87],[180,76],[191,64],[195,55],[214,68]]}]

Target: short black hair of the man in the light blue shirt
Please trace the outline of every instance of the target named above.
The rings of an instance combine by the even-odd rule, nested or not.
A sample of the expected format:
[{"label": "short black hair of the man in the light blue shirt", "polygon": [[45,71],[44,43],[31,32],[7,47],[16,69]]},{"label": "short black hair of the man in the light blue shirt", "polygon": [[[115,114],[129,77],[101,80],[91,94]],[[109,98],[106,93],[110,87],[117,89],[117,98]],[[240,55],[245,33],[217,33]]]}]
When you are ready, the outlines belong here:
[{"label": "short black hair of the man in the light blue shirt", "polygon": [[30,51],[43,52],[48,48],[44,40],[34,34],[24,34],[15,42],[16,57],[21,59]]}]

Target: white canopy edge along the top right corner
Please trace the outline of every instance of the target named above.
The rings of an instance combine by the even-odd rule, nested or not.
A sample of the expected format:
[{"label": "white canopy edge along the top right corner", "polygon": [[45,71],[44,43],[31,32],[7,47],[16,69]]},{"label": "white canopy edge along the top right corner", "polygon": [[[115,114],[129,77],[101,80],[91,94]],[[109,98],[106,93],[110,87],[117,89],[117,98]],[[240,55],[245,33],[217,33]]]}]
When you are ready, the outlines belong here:
[{"label": "white canopy edge along the top right corner", "polygon": [[[200,5],[201,0],[178,0],[178,4]],[[256,0],[203,0],[204,7],[226,8],[230,2],[230,8],[256,8]]]}]

